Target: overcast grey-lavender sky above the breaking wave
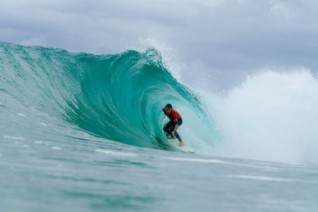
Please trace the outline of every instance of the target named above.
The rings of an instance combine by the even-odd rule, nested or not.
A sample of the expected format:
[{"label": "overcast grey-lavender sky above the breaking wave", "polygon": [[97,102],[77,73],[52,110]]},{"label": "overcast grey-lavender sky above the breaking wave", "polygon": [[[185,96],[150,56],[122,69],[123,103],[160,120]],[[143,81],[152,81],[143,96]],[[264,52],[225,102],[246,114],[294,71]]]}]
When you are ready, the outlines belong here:
[{"label": "overcast grey-lavender sky above the breaking wave", "polygon": [[93,54],[152,45],[189,84],[191,73],[235,84],[265,66],[317,72],[317,14],[314,0],[1,1],[0,41]]}]

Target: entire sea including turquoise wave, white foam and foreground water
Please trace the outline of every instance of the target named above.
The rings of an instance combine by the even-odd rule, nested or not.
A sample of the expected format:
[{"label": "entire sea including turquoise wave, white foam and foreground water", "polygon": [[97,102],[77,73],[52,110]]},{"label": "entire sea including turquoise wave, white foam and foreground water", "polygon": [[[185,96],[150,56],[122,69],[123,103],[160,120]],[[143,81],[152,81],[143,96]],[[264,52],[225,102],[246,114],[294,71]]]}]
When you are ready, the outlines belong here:
[{"label": "entire sea including turquoise wave, white foam and foreground water", "polygon": [[[268,70],[226,97],[197,88],[153,48],[0,42],[1,211],[317,211],[315,77]],[[168,103],[194,154],[166,142]]]}]

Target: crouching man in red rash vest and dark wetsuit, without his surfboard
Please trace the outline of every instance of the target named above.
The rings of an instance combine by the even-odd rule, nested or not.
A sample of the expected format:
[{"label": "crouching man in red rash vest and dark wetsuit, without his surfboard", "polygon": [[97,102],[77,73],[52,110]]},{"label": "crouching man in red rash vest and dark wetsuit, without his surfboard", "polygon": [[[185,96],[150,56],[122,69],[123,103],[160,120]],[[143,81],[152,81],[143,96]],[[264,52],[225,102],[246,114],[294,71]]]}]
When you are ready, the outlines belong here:
[{"label": "crouching man in red rash vest and dark wetsuit, without his surfboard", "polygon": [[171,104],[167,104],[164,108],[162,108],[164,114],[168,116],[170,121],[163,127],[163,131],[166,132],[166,138],[177,138],[179,140],[179,147],[182,147],[183,141],[181,140],[179,134],[176,132],[178,127],[182,125],[182,118],[180,114],[172,108]]}]

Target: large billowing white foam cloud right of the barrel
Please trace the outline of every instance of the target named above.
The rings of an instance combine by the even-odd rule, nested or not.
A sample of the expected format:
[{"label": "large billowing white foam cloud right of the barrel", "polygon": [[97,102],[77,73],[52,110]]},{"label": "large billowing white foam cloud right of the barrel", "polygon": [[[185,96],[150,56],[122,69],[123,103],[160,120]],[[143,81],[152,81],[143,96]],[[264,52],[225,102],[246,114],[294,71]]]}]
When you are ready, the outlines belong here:
[{"label": "large billowing white foam cloud right of the barrel", "polygon": [[317,163],[317,93],[318,82],[306,70],[288,74],[266,71],[248,78],[223,102],[211,106],[224,134],[212,154]]}]

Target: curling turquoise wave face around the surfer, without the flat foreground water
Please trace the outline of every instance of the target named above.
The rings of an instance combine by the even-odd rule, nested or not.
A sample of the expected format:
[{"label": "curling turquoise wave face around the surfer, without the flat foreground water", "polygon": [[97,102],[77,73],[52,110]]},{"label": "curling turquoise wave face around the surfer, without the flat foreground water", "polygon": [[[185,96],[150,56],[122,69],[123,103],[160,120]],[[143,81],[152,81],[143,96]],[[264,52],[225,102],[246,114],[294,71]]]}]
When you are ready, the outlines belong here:
[{"label": "curling turquoise wave face around the surfer, without the flat foreground water", "polygon": [[1,92],[20,110],[34,108],[96,137],[165,148],[162,107],[170,103],[219,139],[200,96],[172,77],[156,49],[93,55],[6,42],[0,49]]}]

